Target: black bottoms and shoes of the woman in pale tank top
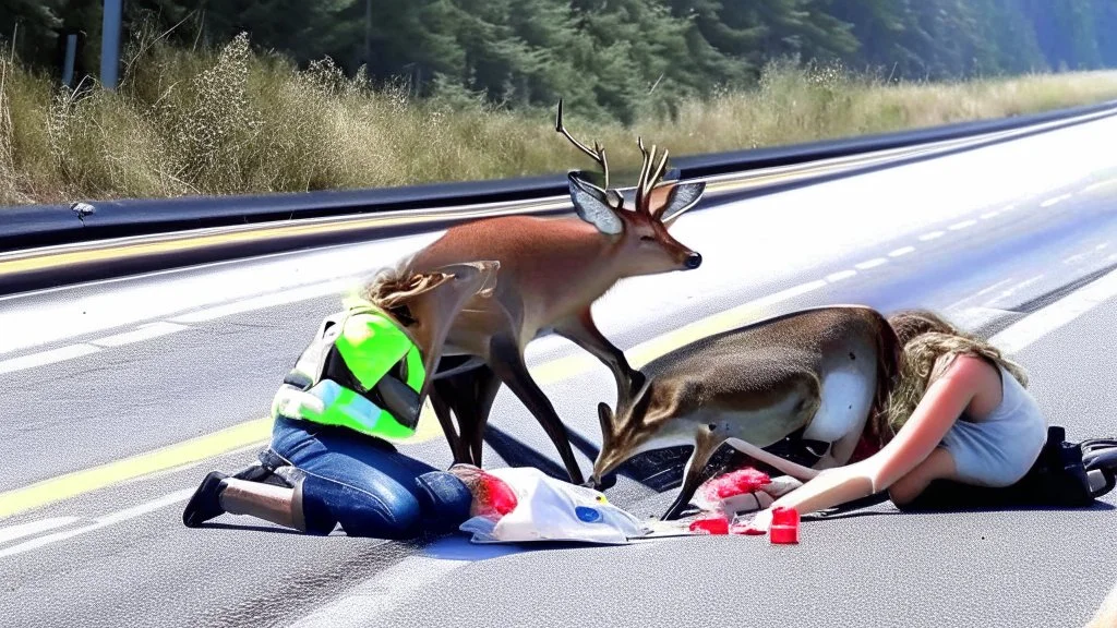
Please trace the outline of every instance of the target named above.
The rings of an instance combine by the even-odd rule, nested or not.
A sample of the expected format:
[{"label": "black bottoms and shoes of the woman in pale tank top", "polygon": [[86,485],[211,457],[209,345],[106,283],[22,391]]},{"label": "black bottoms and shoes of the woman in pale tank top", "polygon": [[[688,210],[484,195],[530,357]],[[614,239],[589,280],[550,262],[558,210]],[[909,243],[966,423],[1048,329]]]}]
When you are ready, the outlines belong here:
[{"label": "black bottoms and shoes of the woman in pale tank top", "polygon": [[[1011,486],[991,488],[936,479],[904,512],[1003,508],[1012,506],[1085,507],[1117,485],[1117,440],[1066,441],[1063,428],[1048,428],[1035,464]],[[1095,478],[1091,487],[1090,477]],[[1100,482],[1099,482],[1100,479]],[[1099,485],[1100,484],[1100,485]]]}]

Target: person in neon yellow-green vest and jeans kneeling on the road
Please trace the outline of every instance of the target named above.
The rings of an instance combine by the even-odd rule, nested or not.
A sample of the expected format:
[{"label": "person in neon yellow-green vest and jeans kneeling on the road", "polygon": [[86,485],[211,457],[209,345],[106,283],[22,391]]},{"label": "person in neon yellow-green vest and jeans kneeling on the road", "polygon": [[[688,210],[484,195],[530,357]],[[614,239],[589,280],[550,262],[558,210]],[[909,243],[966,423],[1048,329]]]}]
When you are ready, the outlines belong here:
[{"label": "person in neon yellow-green vest and jeans kneeling on the road", "polygon": [[496,267],[442,270],[382,273],[327,317],[275,396],[260,464],[207,475],[183,523],[228,512],[311,534],[341,524],[351,536],[410,539],[469,518],[478,469],[440,472],[385,440],[414,434],[449,324],[469,297],[486,294]]}]

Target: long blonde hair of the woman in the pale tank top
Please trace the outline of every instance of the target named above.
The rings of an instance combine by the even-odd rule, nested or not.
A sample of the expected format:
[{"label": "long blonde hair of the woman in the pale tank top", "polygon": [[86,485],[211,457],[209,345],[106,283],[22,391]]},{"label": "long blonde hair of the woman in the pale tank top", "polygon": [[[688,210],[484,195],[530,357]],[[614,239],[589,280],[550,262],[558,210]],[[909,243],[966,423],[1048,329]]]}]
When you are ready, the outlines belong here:
[{"label": "long blonde hair of the woman in the pale tank top", "polygon": [[[1024,369],[992,344],[968,334],[927,310],[905,310],[888,317],[903,352],[899,377],[882,411],[882,427],[891,439],[911,417],[930,382],[942,377],[957,355],[974,355],[1001,365],[1028,386]],[[890,432],[890,434],[889,434]]]}]

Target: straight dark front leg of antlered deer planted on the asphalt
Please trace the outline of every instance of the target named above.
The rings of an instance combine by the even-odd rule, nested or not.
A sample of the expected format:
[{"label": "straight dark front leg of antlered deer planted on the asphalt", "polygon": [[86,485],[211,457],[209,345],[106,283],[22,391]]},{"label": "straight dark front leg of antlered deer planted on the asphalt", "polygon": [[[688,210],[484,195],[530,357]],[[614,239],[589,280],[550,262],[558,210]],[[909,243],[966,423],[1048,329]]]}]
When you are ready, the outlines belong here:
[{"label": "straight dark front leg of antlered deer planted on the asphalt", "polygon": [[577,466],[577,459],[574,458],[574,450],[570,445],[570,437],[566,435],[566,426],[558,418],[551,400],[532,379],[519,345],[512,339],[495,336],[489,350],[489,365],[496,377],[512,389],[527,407],[527,410],[532,412],[535,420],[543,426],[551,443],[558,449],[558,455],[566,466],[566,473],[570,474],[570,480],[574,484],[585,482],[585,478],[582,477],[582,469]]}]

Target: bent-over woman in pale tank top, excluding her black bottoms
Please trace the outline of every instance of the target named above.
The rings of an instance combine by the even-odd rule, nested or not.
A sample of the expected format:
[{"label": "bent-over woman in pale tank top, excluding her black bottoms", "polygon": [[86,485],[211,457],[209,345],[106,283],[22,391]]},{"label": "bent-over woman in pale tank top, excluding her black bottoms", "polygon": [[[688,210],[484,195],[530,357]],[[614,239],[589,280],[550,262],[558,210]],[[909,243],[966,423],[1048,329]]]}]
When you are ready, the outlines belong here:
[{"label": "bent-over woman in pale tank top, excluding her black bottoms", "polygon": [[878,419],[887,444],[786,493],[756,514],[750,531],[767,532],[781,506],[806,514],[886,489],[894,503],[907,504],[935,479],[1010,486],[1039,458],[1048,421],[1020,367],[929,312],[897,313],[889,323],[904,351]]}]

